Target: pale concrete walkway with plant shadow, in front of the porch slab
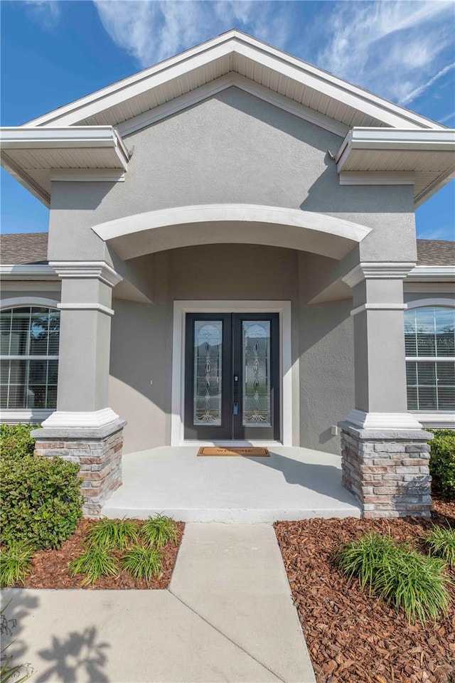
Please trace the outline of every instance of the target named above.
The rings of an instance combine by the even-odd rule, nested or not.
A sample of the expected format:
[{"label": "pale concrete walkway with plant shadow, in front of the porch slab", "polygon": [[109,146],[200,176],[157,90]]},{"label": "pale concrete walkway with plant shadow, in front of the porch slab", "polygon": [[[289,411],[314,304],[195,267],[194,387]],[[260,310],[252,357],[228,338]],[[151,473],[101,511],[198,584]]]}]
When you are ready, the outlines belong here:
[{"label": "pale concrete walkway with plant shadow, in front of the porch slab", "polygon": [[268,524],[187,524],[168,591],[10,598],[32,683],[315,682]]}]

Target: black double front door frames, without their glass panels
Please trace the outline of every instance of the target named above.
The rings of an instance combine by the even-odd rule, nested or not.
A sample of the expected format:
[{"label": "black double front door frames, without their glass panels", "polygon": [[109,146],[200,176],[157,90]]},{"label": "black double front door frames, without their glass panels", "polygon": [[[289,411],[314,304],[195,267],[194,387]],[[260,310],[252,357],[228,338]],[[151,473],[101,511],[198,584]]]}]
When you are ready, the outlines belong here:
[{"label": "black double front door frames, without their glass panels", "polygon": [[[270,320],[272,427],[242,425],[242,321]],[[193,424],[194,324],[196,320],[223,321],[222,418],[221,425]],[[184,371],[184,439],[200,441],[279,441],[281,437],[279,313],[275,312],[186,312]],[[235,378],[237,377],[237,381]],[[237,411],[234,409],[237,403]],[[236,413],[236,414],[235,414]]]}]

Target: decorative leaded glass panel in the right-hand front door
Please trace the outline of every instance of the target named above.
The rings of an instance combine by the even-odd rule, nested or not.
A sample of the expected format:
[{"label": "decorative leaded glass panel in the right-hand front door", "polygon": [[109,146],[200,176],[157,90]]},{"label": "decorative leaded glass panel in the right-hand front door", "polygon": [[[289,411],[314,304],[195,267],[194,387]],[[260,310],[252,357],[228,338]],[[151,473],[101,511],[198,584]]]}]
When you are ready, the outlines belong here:
[{"label": "decorative leaded glass panel in the right-hand front door", "polygon": [[242,322],[243,426],[271,427],[270,321]]}]

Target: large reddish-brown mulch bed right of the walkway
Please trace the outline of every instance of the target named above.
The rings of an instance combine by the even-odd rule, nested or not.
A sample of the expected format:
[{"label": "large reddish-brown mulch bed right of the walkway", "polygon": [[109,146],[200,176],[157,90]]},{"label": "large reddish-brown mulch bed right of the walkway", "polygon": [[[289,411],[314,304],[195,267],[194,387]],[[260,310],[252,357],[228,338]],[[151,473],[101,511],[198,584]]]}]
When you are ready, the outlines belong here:
[{"label": "large reddish-brown mulch bed right of the walkway", "polygon": [[431,521],[349,517],[274,524],[318,683],[455,683],[455,585],[447,617],[410,625],[333,563],[341,543],[370,529],[390,529],[398,541],[410,539],[423,549],[422,536],[433,524],[455,526],[455,503],[434,501]]}]

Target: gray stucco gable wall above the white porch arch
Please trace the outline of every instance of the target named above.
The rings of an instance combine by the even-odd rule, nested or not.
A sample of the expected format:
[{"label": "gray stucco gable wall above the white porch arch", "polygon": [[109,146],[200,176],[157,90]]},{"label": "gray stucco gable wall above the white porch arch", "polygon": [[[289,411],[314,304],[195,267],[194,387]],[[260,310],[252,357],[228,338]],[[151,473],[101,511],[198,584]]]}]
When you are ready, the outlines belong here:
[{"label": "gray stucco gable wall above the white porch arch", "polygon": [[[341,138],[238,88],[127,137],[124,183],[54,182],[50,258],[105,258],[90,227],[154,209],[257,203],[339,216],[375,228],[368,260],[415,257],[410,186],[340,186]],[[106,258],[109,258],[108,256]]]}]

